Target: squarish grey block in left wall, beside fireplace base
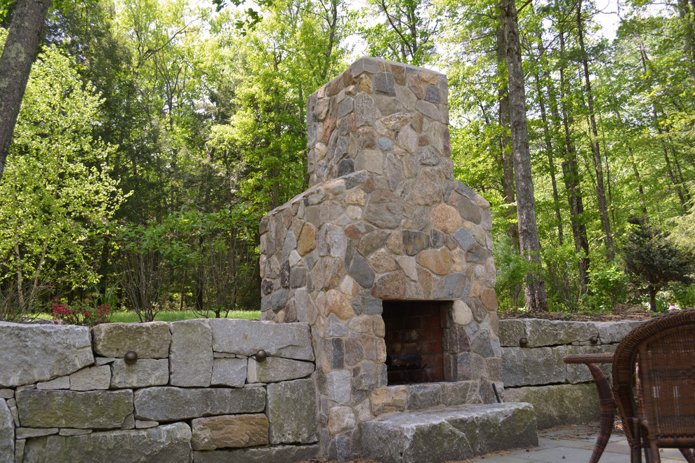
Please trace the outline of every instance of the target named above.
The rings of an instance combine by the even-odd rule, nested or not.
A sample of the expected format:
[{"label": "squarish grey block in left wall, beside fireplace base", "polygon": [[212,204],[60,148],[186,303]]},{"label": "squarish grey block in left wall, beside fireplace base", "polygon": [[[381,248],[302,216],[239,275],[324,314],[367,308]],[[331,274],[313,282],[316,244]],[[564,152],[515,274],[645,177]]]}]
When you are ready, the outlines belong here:
[{"label": "squarish grey block in left wall, beside fireplace base", "polygon": [[316,385],[314,380],[268,384],[267,415],[270,443],[318,441]]}]

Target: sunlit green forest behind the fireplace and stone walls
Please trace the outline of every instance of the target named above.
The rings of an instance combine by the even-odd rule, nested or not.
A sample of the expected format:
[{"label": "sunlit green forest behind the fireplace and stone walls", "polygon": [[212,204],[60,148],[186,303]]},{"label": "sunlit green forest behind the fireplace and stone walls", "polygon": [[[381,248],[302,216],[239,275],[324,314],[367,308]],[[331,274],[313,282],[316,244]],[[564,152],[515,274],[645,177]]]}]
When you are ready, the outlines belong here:
[{"label": "sunlit green forest behind the fireplace and stone walls", "polygon": [[449,76],[454,175],[491,203],[501,309],[529,274],[550,310],[695,306],[695,0],[618,4],[615,37],[591,0],[515,10],[531,260],[498,2],[55,2],[0,182],[0,313],[258,309],[258,221],[307,188],[306,99],[363,54]]}]

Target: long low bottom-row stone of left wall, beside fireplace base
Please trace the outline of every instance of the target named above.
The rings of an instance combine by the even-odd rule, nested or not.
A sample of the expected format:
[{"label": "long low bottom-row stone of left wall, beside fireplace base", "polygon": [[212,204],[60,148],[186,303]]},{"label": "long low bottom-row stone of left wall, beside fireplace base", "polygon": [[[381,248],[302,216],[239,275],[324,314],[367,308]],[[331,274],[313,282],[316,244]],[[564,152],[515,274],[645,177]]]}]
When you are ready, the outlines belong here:
[{"label": "long low bottom-row stone of left wall, beside fireplace base", "polygon": [[193,452],[195,463],[291,463],[310,460],[317,455],[318,444]]}]

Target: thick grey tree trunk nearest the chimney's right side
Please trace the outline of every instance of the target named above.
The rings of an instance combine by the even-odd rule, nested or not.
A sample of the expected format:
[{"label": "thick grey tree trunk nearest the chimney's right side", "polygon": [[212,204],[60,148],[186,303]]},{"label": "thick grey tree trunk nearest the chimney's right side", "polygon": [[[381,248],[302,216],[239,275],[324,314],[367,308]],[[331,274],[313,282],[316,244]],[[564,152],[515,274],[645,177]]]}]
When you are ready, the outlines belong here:
[{"label": "thick grey tree trunk nearest the chimney's right side", "polygon": [[536,224],[536,200],[531,178],[531,153],[526,117],[524,70],[522,69],[521,44],[517,24],[517,8],[514,0],[501,0],[507,59],[510,103],[510,128],[514,155],[514,178],[517,190],[517,215],[519,217],[519,247],[531,262],[526,276],[524,295],[526,307],[531,311],[547,311],[548,299],[545,281],[541,275],[541,244],[538,242]]}]

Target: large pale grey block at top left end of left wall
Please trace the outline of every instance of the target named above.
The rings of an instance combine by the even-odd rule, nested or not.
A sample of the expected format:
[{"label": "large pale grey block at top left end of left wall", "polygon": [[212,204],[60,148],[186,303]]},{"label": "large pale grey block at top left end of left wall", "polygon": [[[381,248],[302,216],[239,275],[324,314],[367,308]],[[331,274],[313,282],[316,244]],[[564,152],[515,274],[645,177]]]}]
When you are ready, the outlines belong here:
[{"label": "large pale grey block at top left end of left wall", "polygon": [[0,387],[69,375],[94,363],[89,328],[0,321]]}]

